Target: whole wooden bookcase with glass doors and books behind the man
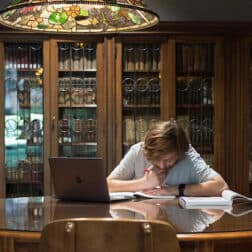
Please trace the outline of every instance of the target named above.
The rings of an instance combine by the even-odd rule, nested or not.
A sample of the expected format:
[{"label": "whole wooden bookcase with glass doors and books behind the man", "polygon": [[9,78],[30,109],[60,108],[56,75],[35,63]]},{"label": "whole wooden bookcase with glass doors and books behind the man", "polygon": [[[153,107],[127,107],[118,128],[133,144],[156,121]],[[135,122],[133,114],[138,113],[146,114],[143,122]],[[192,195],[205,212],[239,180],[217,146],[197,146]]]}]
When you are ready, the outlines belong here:
[{"label": "whole wooden bookcase with glass doors and books behind the man", "polygon": [[[189,24],[181,27],[179,33],[173,33],[176,26],[169,32],[164,25],[158,32],[110,36],[1,33],[0,195],[14,195],[10,188],[17,185],[27,195],[50,194],[48,156],[100,156],[109,173],[155,121],[171,117],[181,121],[192,144],[231,187],[247,194],[246,144],[251,138],[246,120],[251,112],[246,111],[251,111],[251,99],[244,102],[249,93],[244,84],[249,81],[251,86],[251,42],[250,62],[245,62],[249,53],[239,29],[228,37],[225,25],[220,30],[210,27],[204,36],[200,31],[208,31],[207,25],[198,26],[197,34],[194,26],[190,33]],[[33,53],[37,45],[41,47]],[[248,68],[249,76],[243,71]],[[5,85],[13,85],[6,82],[11,69],[23,80],[22,85],[16,81],[13,101],[18,106],[12,104],[14,116],[22,116],[18,123],[6,118],[5,111]],[[34,113],[40,118],[32,117]],[[21,135],[25,144],[18,147],[24,153],[19,166],[26,171],[23,161],[28,159],[28,167],[42,170],[39,179],[27,185],[13,179],[20,180],[18,163],[6,169],[12,165],[6,159],[10,152],[5,139],[13,128],[15,134],[31,132]]]}]

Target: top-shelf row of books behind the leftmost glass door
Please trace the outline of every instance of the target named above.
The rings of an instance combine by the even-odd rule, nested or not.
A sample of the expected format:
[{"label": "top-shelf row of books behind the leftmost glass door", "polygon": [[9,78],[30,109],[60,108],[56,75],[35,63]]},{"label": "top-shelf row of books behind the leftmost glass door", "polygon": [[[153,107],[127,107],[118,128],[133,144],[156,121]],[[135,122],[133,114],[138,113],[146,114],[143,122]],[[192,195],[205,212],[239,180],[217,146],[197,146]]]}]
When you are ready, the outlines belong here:
[{"label": "top-shelf row of books behind the leftmost glass door", "polygon": [[5,46],[5,69],[38,69],[42,67],[41,44],[10,43]]}]

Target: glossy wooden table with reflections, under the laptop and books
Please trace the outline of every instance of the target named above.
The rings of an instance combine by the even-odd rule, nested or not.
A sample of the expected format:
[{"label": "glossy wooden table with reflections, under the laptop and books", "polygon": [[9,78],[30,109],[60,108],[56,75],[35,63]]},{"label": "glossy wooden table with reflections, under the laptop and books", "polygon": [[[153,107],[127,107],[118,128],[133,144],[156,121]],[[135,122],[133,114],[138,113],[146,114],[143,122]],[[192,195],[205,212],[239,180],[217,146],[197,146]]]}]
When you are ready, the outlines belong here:
[{"label": "glossy wooden table with reflections, under the laptop and books", "polygon": [[[237,205],[248,211],[252,205]],[[0,199],[0,251],[34,251],[43,227],[56,219],[112,217],[169,221],[182,251],[251,251],[252,211],[233,216],[219,209],[182,209],[177,200],[112,204],[60,202],[53,197]]]}]

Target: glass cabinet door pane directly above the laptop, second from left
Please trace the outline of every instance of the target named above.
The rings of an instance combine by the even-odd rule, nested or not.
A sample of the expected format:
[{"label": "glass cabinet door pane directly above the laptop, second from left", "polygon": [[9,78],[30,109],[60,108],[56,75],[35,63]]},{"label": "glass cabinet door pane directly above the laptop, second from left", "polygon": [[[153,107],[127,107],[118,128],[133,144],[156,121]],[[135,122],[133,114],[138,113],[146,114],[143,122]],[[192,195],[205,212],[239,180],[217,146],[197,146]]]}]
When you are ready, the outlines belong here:
[{"label": "glass cabinet door pane directly above the laptop, second from left", "polygon": [[96,43],[58,43],[58,155],[97,156]]}]

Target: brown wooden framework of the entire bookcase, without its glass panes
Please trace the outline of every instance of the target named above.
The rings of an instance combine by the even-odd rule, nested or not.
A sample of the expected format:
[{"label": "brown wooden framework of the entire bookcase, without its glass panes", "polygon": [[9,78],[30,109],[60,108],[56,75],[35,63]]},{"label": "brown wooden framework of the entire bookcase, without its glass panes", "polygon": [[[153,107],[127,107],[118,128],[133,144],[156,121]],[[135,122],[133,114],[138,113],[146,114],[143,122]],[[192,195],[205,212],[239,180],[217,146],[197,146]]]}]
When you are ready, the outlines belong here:
[{"label": "brown wooden framework of the entire bookcase, without its glass panes", "polygon": [[[120,161],[122,146],[122,43],[161,43],[161,119],[176,117],[176,43],[215,44],[215,169],[233,190],[249,192],[248,79],[251,24],[163,24],[157,31],[110,35],[53,35],[5,31],[0,35],[0,196],[5,196],[4,169],[4,42],[43,42],[44,65],[44,192],[51,194],[48,157],[57,155],[57,42],[98,41],[98,153],[107,173]],[[242,31],[243,30],[243,31]],[[15,36],[14,36],[15,35]],[[169,83],[169,85],[165,85]]]}]

